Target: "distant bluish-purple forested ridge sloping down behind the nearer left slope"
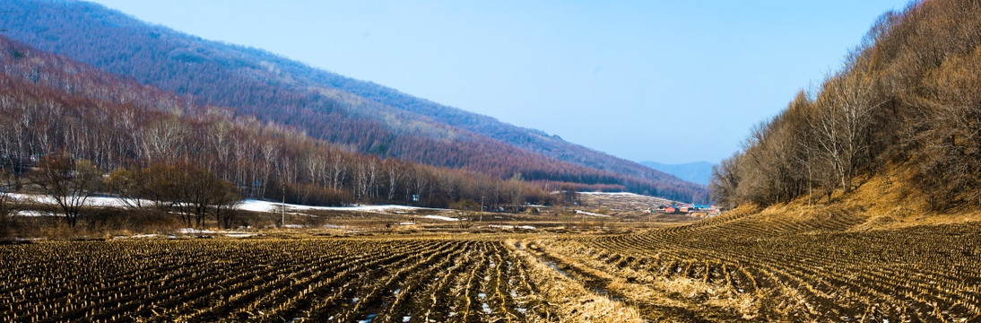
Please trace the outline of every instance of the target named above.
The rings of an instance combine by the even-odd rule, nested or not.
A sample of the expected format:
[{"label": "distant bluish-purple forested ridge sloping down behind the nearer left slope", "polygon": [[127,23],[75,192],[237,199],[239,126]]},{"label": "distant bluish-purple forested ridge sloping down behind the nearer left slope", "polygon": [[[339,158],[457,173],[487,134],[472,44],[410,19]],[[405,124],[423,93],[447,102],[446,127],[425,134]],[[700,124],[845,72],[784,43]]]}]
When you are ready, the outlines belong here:
[{"label": "distant bluish-purple forested ridge sloping down behind the nearer left slope", "polygon": [[261,50],[146,25],[95,4],[0,1],[6,34],[198,105],[231,108],[346,151],[542,186],[702,201],[705,188],[541,132],[312,69]]}]

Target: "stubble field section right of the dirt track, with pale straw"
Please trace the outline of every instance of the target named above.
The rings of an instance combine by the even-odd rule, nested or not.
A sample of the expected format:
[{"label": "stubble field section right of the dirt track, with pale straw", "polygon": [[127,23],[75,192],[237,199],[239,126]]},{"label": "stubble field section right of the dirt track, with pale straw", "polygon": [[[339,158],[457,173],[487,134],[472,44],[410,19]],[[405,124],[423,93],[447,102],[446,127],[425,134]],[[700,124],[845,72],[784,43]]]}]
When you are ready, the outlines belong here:
[{"label": "stubble field section right of the dirt track, with pale straw", "polygon": [[[981,321],[979,224],[848,232],[859,219],[713,221],[539,243],[572,271],[600,273],[648,317]],[[645,289],[652,296],[638,296]]]}]

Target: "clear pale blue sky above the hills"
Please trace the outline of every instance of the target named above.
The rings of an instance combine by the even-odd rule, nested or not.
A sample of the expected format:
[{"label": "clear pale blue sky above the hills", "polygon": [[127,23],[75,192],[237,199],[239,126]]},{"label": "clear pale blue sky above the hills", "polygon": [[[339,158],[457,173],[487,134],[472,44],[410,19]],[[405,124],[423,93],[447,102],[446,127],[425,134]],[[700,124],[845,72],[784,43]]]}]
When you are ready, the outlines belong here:
[{"label": "clear pale blue sky above the hills", "polygon": [[717,162],[900,0],[98,0],[622,158]]}]

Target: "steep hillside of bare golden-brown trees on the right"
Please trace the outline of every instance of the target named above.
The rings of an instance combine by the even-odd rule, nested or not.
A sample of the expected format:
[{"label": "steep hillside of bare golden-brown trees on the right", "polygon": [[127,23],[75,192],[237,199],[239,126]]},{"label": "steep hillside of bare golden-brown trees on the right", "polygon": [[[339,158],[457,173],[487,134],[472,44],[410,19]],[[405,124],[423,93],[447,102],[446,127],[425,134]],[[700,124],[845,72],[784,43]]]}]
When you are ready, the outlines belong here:
[{"label": "steep hillside of bare golden-brown trees on the right", "polygon": [[981,205],[981,2],[887,12],[841,71],[801,90],[715,168],[722,203],[832,199],[870,177],[934,210]]}]

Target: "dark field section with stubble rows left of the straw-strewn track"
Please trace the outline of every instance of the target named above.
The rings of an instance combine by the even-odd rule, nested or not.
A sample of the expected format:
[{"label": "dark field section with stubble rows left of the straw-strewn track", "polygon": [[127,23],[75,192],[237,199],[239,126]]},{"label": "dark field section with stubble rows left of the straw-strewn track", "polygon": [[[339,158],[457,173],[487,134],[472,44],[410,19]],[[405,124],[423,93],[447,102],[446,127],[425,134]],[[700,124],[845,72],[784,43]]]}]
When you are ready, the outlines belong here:
[{"label": "dark field section with stubble rows left of the straw-strewn track", "polygon": [[0,259],[5,322],[557,321],[500,241],[44,242]]}]

